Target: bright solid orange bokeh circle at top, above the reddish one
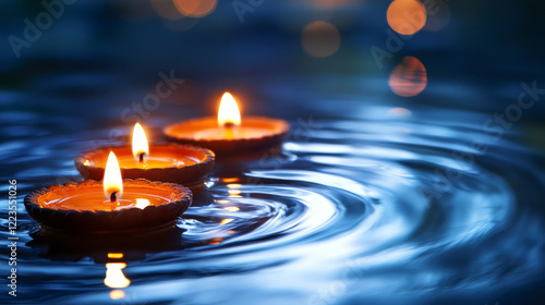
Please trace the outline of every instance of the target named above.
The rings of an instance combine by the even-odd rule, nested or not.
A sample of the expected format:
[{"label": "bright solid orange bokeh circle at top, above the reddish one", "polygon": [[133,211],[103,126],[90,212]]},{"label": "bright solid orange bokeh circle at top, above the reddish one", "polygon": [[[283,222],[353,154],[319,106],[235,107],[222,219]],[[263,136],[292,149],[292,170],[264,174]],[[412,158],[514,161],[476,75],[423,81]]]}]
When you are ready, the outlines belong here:
[{"label": "bright solid orange bokeh circle at top, above the reddish one", "polygon": [[388,7],[386,19],[391,29],[413,35],[426,24],[426,9],[417,0],[395,0]]}]

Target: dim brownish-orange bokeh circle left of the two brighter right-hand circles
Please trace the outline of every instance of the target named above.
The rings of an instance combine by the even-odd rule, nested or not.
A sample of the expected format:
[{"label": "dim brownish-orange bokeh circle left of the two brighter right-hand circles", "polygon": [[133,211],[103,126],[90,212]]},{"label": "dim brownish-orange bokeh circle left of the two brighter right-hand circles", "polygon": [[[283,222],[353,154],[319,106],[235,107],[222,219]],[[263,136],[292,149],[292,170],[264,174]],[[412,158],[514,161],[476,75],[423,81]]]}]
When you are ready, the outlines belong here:
[{"label": "dim brownish-orange bokeh circle left of the two brighter right-hand circles", "polygon": [[339,49],[340,34],[335,25],[315,21],[303,28],[301,45],[307,54],[326,58]]}]

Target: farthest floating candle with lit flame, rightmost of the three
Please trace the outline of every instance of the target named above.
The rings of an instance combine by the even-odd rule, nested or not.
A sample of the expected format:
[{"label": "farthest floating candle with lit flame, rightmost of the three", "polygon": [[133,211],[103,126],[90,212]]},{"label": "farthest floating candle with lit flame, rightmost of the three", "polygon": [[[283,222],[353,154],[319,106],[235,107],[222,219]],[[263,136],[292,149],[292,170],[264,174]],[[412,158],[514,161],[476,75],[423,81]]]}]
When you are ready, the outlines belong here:
[{"label": "farthest floating candle with lit flame, rightmost of the three", "polygon": [[239,107],[229,93],[221,98],[217,118],[187,120],[164,130],[170,141],[201,145],[225,155],[278,145],[289,131],[290,125],[283,120],[241,118]]}]

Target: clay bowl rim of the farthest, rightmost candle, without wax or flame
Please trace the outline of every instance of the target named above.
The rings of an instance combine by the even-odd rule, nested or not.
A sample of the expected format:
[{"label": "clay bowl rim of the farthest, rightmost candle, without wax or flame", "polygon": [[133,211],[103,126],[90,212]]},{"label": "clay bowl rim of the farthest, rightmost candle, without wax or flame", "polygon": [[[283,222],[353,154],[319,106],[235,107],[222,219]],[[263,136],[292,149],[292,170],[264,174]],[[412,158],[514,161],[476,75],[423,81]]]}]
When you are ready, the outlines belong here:
[{"label": "clay bowl rim of the farthest, rightmost candle, without wax or flame", "polygon": [[[185,143],[193,145],[202,145],[204,147],[210,148],[216,154],[230,155],[230,154],[241,154],[245,150],[259,150],[263,148],[271,147],[278,145],[282,142],[282,138],[290,132],[290,124],[282,119],[274,119],[267,117],[244,117],[242,118],[241,127],[259,127],[259,123],[265,123],[268,125],[276,125],[274,129],[267,131],[264,127],[264,132],[256,136],[245,136],[239,138],[195,138],[191,132],[177,134],[173,132],[175,129],[183,129],[184,126],[196,126],[199,123],[209,123],[210,127],[217,126],[217,118],[215,117],[204,117],[197,119],[190,119],[181,122],[177,122],[164,127],[162,132],[165,136],[174,143]],[[254,125],[255,124],[255,125]],[[263,126],[263,124],[262,124]]]}]

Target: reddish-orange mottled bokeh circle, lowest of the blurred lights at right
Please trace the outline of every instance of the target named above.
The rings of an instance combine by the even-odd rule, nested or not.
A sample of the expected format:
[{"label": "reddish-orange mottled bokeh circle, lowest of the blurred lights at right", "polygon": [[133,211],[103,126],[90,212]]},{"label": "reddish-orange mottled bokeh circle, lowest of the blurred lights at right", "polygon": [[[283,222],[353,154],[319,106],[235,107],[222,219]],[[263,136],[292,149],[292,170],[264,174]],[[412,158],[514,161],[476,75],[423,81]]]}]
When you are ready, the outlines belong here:
[{"label": "reddish-orange mottled bokeh circle, lowest of the blurred lights at right", "polygon": [[388,85],[398,96],[415,96],[427,85],[426,68],[416,58],[404,57],[391,73]]}]

